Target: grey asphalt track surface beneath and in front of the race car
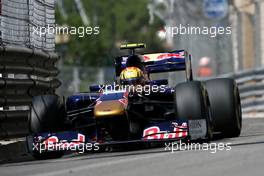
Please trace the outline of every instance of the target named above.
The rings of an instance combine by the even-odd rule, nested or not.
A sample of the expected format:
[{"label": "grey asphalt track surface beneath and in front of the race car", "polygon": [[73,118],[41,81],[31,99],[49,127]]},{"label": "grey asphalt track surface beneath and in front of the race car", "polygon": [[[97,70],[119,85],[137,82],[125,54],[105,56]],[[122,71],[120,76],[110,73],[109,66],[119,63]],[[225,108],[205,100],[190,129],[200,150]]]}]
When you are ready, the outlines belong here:
[{"label": "grey asphalt track surface beneath and in front of the race car", "polygon": [[135,176],[203,175],[263,176],[264,118],[244,119],[239,138],[221,139],[231,150],[165,151],[164,147],[122,152],[69,155],[62,159],[0,165],[0,175]]}]

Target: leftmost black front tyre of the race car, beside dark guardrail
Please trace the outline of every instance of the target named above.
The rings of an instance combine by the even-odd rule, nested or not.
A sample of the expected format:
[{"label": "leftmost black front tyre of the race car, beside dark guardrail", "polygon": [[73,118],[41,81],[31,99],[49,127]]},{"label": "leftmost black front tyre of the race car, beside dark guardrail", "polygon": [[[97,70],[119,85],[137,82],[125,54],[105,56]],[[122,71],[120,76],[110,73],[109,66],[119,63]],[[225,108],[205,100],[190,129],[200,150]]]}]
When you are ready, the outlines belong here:
[{"label": "leftmost black front tyre of the race car, beside dark guardrail", "polygon": [[[61,131],[64,128],[65,115],[65,106],[58,96],[41,95],[33,97],[29,129],[33,135],[36,133]],[[62,151],[46,153],[33,151],[33,157],[35,159],[52,159],[62,156]]]}]

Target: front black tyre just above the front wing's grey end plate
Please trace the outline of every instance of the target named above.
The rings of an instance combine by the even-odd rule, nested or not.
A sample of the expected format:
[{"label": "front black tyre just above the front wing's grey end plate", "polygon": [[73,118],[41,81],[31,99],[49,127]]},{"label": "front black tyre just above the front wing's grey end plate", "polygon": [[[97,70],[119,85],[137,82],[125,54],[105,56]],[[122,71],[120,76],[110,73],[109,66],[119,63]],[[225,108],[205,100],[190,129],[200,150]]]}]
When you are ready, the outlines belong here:
[{"label": "front black tyre just above the front wing's grey end plate", "polygon": [[212,138],[209,99],[204,85],[199,81],[180,83],[175,88],[175,112],[177,120],[206,119],[207,138]]}]

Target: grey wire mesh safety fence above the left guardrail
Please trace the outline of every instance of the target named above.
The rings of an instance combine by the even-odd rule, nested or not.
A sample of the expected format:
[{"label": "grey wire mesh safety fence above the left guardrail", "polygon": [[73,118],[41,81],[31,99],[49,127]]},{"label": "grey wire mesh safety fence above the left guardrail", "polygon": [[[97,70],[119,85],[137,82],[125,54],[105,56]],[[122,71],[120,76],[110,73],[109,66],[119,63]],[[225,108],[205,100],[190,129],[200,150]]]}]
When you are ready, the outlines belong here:
[{"label": "grey wire mesh safety fence above the left guardrail", "polygon": [[0,43],[52,52],[55,35],[45,33],[55,26],[54,0],[1,0]]}]

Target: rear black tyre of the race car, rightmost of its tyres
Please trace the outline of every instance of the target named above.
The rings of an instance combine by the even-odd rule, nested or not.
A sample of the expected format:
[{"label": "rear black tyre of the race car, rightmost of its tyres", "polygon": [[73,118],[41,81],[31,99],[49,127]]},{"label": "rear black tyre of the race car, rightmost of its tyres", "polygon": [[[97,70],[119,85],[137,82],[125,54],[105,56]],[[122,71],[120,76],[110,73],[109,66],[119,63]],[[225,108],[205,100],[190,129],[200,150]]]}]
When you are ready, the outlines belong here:
[{"label": "rear black tyre of the race car, rightmost of its tyres", "polygon": [[233,79],[206,81],[213,129],[221,137],[238,137],[242,128],[242,113],[238,87]]}]

